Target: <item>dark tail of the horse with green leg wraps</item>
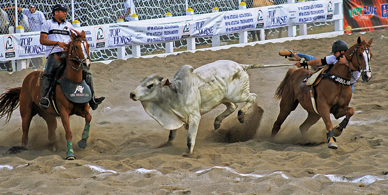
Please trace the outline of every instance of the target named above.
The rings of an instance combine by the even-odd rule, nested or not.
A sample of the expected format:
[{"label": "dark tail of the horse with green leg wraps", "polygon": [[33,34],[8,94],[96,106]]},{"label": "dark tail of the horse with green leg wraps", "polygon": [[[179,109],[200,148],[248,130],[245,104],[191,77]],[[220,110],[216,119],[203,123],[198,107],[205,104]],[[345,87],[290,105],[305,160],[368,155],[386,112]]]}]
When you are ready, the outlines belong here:
[{"label": "dark tail of the horse with green leg wraps", "polygon": [[12,112],[19,106],[21,87],[8,88],[0,94],[0,118],[6,116],[5,123],[11,119]]}]

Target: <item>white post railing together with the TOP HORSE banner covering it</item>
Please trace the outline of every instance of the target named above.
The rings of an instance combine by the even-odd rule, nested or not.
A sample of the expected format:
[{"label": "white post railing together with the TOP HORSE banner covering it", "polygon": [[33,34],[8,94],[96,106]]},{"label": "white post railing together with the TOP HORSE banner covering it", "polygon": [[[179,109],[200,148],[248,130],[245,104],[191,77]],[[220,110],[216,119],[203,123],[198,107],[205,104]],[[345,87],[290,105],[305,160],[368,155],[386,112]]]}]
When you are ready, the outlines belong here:
[{"label": "white post railing together with the TOP HORSE banner covering it", "polygon": [[[187,16],[170,16],[165,18],[137,20],[105,25],[77,27],[76,30],[87,32],[91,50],[116,49],[118,58],[140,57],[140,46],[165,43],[166,53],[174,52],[173,42],[187,40],[187,50],[195,49],[195,38],[212,37],[212,47],[220,46],[221,35],[239,33],[240,44],[248,42],[248,31],[260,31],[260,40],[264,40],[264,30],[288,27],[288,36],[307,35],[307,23],[334,21],[335,32],[343,33],[342,0],[317,0],[273,5],[246,9],[240,3],[239,10],[194,15],[188,8]],[[77,26],[73,23],[74,26]],[[79,24],[79,23],[78,23]],[[15,70],[26,68],[22,59],[42,57],[44,47],[39,44],[39,32],[0,35],[0,61],[17,60]],[[12,39],[12,40],[11,40]],[[13,45],[10,44],[13,41]],[[263,42],[263,41],[261,41]],[[260,41],[258,42],[260,43]],[[125,55],[125,47],[132,47],[132,55]],[[15,64],[15,63],[14,63]]]}]

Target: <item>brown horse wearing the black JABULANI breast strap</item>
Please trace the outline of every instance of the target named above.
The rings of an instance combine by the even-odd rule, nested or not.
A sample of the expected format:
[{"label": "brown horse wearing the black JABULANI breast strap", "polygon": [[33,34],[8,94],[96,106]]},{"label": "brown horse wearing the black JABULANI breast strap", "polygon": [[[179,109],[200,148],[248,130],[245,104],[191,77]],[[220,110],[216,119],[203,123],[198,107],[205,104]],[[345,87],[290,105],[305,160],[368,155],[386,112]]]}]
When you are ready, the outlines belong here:
[{"label": "brown horse wearing the black JABULANI breast strap", "polygon": [[[368,82],[372,78],[370,60],[372,52],[370,50],[373,38],[365,41],[365,37],[358,37],[357,43],[350,47],[343,55],[349,62],[349,66],[339,64],[339,61],[331,67],[327,72],[329,77],[342,78],[346,83],[331,80],[323,77],[322,80],[315,86],[306,85],[302,82],[309,74],[304,68],[289,69],[283,81],[277,87],[275,97],[280,100],[280,113],[275,121],[272,129],[271,138],[273,139],[276,133],[280,130],[280,126],[286,120],[287,116],[294,111],[300,103],[307,111],[307,119],[299,127],[302,135],[306,134],[308,129],[314,125],[321,117],[325,123],[327,130],[328,147],[337,149],[336,139],[345,129],[350,117],[355,113],[355,110],[349,107],[350,99],[352,98],[352,90],[349,85],[353,71],[361,72],[362,80]],[[337,77],[335,77],[337,76]],[[315,91],[315,93],[314,93]],[[314,111],[312,97],[316,100],[316,110]],[[330,114],[333,114],[336,119],[345,116],[343,121],[333,129],[333,124],[330,120]]]}]

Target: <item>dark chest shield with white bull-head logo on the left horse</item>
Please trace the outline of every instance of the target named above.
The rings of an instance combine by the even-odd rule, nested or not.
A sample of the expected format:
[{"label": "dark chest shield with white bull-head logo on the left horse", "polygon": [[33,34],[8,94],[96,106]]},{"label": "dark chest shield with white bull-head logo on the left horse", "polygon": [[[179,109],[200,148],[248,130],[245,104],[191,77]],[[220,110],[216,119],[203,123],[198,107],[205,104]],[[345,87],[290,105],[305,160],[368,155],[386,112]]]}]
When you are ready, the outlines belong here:
[{"label": "dark chest shield with white bull-head logo on the left horse", "polygon": [[61,84],[65,97],[71,102],[83,104],[92,99],[92,92],[85,80],[75,82],[68,79],[60,79],[57,82]]}]

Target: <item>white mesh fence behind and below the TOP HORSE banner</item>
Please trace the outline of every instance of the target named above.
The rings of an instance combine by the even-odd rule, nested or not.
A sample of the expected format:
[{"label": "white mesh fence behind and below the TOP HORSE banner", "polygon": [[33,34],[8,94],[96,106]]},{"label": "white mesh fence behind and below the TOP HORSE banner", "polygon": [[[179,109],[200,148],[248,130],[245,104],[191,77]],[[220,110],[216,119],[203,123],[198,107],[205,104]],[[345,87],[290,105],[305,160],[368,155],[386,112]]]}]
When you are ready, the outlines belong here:
[{"label": "white mesh fence behind and below the TOP HORSE banner", "polygon": [[[71,11],[68,14],[67,20],[72,20],[72,16],[74,15],[74,19],[79,20],[81,26],[115,23],[117,18],[124,16],[125,14],[125,1],[126,0],[74,0],[74,12]],[[298,0],[295,1],[297,2]],[[245,0],[245,2],[247,8],[251,8],[287,3],[287,0]],[[34,4],[36,10],[43,12],[46,19],[50,19],[52,17],[52,7],[58,3],[71,9],[71,0],[18,0],[17,5],[20,8],[27,8],[28,5]],[[133,0],[133,3],[136,7],[135,10],[136,14],[139,16],[139,20],[162,18],[167,12],[170,12],[172,16],[186,15],[186,0]],[[188,7],[194,9],[194,14],[211,13],[211,10],[214,7],[217,7],[220,12],[237,10],[239,8],[239,0],[187,0],[187,3]],[[15,6],[14,0],[8,2],[0,1],[1,8],[11,6]],[[8,15],[7,20],[9,21],[9,24],[4,23],[4,21],[4,24],[0,23],[0,33],[3,34],[8,33],[9,26],[15,24],[15,9],[6,10],[6,14]],[[18,21],[21,26],[25,25],[25,22],[27,21],[25,18],[23,20],[22,16],[22,13],[18,12]],[[286,28],[270,29],[266,31],[266,34],[279,33],[279,31],[286,31]],[[25,29],[25,32],[28,32],[28,29]],[[249,33],[249,38],[252,37],[251,34],[252,33]],[[220,41],[224,43],[236,41],[238,40],[238,37],[238,33],[228,34],[221,36]],[[196,45],[209,45],[211,44],[211,37],[196,38],[195,43]],[[174,42],[174,48],[176,49],[184,48],[186,46],[186,40]],[[141,46],[141,53],[146,55],[154,52],[164,52],[164,49],[164,44],[143,45]],[[126,55],[131,53],[131,46],[126,47]],[[117,58],[117,49],[94,50],[91,51],[91,56],[93,61],[115,59]]]}]

